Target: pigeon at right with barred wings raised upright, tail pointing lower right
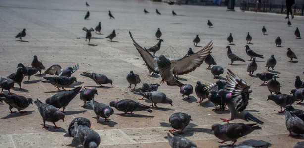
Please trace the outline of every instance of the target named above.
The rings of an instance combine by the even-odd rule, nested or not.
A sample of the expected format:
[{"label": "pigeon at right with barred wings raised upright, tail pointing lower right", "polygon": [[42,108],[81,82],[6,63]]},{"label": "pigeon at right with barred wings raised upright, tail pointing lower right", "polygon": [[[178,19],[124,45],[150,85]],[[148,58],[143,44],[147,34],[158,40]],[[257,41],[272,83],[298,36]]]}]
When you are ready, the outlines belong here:
[{"label": "pigeon at right with barred wings raised upright, tail pointing lower right", "polygon": [[251,93],[251,90],[249,90],[250,86],[229,69],[225,81],[227,83],[225,89],[219,90],[217,94],[222,98],[223,102],[228,105],[231,118],[221,120],[229,123],[229,121],[233,119],[243,119],[245,121],[251,120],[263,124],[264,122],[245,110],[248,105],[249,94]]}]

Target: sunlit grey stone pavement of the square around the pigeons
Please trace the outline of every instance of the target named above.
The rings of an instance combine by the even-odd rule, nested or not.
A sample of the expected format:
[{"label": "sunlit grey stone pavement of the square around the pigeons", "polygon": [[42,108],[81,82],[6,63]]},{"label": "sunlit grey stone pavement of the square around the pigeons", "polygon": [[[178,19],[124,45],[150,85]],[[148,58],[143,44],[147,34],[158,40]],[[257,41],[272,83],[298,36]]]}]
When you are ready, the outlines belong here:
[{"label": "sunlit grey stone pavement of the square around the pigeons", "polygon": [[[43,62],[46,68],[53,64],[60,64],[63,68],[79,63],[79,70],[73,74],[79,85],[87,88],[97,88],[96,100],[109,104],[113,100],[134,99],[140,96],[130,93],[126,75],[130,70],[139,74],[142,83],[159,83],[160,78],[148,77],[147,67],[139,53],[132,44],[128,31],[143,47],[151,47],[157,43],[155,32],[157,28],[162,31],[164,42],[156,53],[171,55],[172,58],[184,56],[188,48],[195,52],[200,50],[210,40],[214,42],[212,56],[217,64],[224,67],[225,77],[227,69],[237,73],[251,86],[253,93],[247,110],[265,122],[260,125],[262,130],[254,131],[244,138],[238,139],[237,144],[246,140],[263,140],[272,144],[272,148],[289,148],[303,138],[288,137],[285,127],[285,117],[277,111],[279,107],[272,101],[266,101],[269,91],[267,86],[260,86],[258,78],[250,77],[246,63],[235,62],[228,65],[225,47],[229,33],[234,37],[231,48],[235,54],[249,60],[245,53],[245,37],[250,32],[253,37],[251,49],[263,54],[265,59],[257,59],[258,70],[254,73],[266,72],[264,67],[271,54],[277,59],[277,66],[273,73],[279,74],[281,92],[289,94],[294,87],[296,75],[304,80],[304,58],[302,39],[295,39],[294,31],[299,27],[303,30],[304,17],[295,16],[291,20],[292,27],[287,27],[284,15],[272,13],[235,12],[226,11],[225,7],[203,6],[177,6],[142,0],[90,0],[90,7],[85,6],[83,0],[1,0],[0,1],[0,76],[5,77],[16,71],[18,63],[30,66],[33,56]],[[150,14],[145,15],[146,8]],[[155,9],[162,15],[156,15]],[[90,19],[84,20],[87,11]],[[115,19],[109,19],[108,10],[111,10]],[[177,16],[172,16],[172,10]],[[214,24],[208,28],[207,20]],[[95,28],[101,22],[101,35],[92,33],[91,44],[85,42],[83,27]],[[268,35],[262,35],[262,27],[267,28]],[[25,42],[20,42],[14,36],[23,28],[27,30]],[[105,37],[115,29],[117,37],[110,42]],[[194,47],[192,39],[199,35],[202,47]],[[276,47],[274,40],[280,36],[283,47]],[[288,62],[286,49],[290,47],[297,55],[298,60]],[[203,63],[194,72],[181,75],[181,82],[196,85],[196,81],[211,84],[216,81],[207,65]],[[89,78],[80,76],[82,72],[96,72],[106,74],[113,80],[113,86],[98,87]],[[47,75],[50,76],[50,75]],[[26,79],[26,78],[25,78]],[[22,83],[23,91],[17,86],[12,93],[24,95],[33,99],[45,101],[46,98],[56,94],[57,89],[49,83],[41,83],[43,78],[32,76],[30,83]],[[142,85],[140,83],[137,87]],[[162,84],[159,90],[165,92],[173,100],[173,106],[159,104],[164,109],[153,109],[152,113],[146,111],[136,112],[134,115],[120,116],[114,109],[110,122],[97,124],[95,113],[90,108],[82,108],[83,102],[79,95],[71,101],[66,108],[65,122],[59,121],[57,125],[62,129],[42,129],[42,118],[37,107],[30,105],[24,111],[27,113],[10,114],[8,105],[0,105],[0,147],[1,148],[50,148],[50,147],[81,147],[72,143],[70,137],[64,137],[70,121],[75,117],[90,119],[92,129],[101,135],[100,148],[169,148],[164,138],[170,129],[168,119],[175,112],[185,112],[192,116],[193,121],[185,129],[185,137],[193,140],[200,148],[217,148],[220,146],[211,132],[211,125],[221,123],[220,118],[229,118],[226,111],[212,111],[212,103],[205,101],[199,105],[195,93],[192,100],[179,97],[179,87]],[[7,93],[7,91],[4,91]],[[146,105],[150,102],[139,101]],[[303,109],[302,105],[295,105]],[[15,111],[16,109],[13,109]],[[102,119],[101,119],[102,120]],[[243,120],[234,120],[233,123],[245,123]],[[47,122],[47,126],[52,123]],[[228,142],[230,143],[230,142]]]}]

